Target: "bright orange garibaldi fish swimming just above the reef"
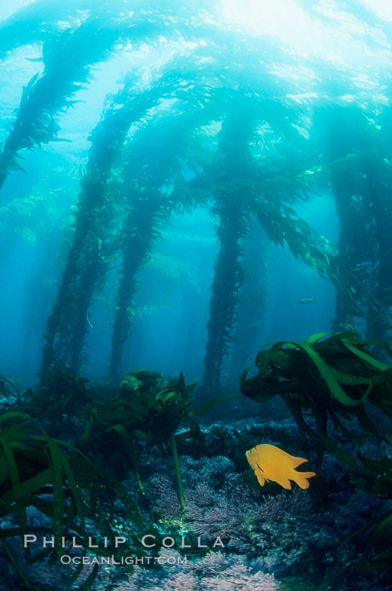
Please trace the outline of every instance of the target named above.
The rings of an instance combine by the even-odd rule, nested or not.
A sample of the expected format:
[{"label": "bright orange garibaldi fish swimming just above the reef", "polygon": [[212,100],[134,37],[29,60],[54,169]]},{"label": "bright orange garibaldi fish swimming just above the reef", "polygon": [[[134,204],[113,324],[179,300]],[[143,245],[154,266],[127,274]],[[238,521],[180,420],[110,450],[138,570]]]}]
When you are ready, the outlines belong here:
[{"label": "bright orange garibaldi fish swimming just above the reef", "polygon": [[316,472],[298,472],[295,470],[297,466],[308,460],[295,458],[275,445],[256,445],[256,447],[248,450],[245,455],[261,486],[264,486],[266,480],[273,480],[281,487],[291,489],[290,480],[294,480],[300,488],[309,488],[308,478],[316,476]]}]

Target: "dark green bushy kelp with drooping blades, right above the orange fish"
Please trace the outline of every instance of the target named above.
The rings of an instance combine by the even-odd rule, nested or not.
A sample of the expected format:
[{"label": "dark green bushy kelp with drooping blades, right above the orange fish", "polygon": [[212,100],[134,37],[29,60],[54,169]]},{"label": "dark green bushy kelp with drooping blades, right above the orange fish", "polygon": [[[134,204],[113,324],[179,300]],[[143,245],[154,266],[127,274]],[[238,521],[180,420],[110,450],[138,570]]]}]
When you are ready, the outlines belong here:
[{"label": "dark green bushy kelp with drooping blades, right above the orange fish", "polygon": [[[335,428],[350,436],[341,419],[356,416],[366,435],[385,437],[386,425],[376,426],[364,405],[367,401],[392,416],[392,369],[369,352],[373,345],[353,332],[316,334],[302,342],[269,343],[256,357],[259,373],[248,378],[250,368],[246,369],[240,389],[259,402],[279,394],[293,414],[305,446],[309,426],[303,412],[310,409],[321,447],[343,463],[367,473],[365,464],[360,467],[356,458],[332,441],[327,421],[330,419]],[[386,343],[379,346],[389,349]],[[321,458],[319,454],[319,465]]]}]

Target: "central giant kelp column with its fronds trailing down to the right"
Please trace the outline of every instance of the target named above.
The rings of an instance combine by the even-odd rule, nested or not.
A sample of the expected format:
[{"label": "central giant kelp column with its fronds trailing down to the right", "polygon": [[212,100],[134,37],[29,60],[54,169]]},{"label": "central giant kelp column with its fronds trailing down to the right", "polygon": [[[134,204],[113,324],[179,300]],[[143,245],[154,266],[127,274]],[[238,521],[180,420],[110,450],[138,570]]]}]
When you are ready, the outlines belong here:
[{"label": "central giant kelp column with its fronds trailing down to the right", "polygon": [[[219,60],[220,56],[213,55]],[[256,75],[238,57],[238,62],[221,74],[231,90],[222,96],[218,89],[211,97],[211,102],[220,97],[221,111],[226,113],[223,120],[220,116],[221,129],[215,138],[218,146],[188,183],[191,191],[209,195],[211,212],[218,220],[220,248],[214,267],[204,357],[204,380],[211,384],[218,383],[222,359],[234,340],[242,275],[239,240],[247,234],[251,217],[259,221],[275,244],[287,243],[295,258],[316,268],[321,277],[337,281],[334,246],[301,220],[292,205],[307,200],[329,171],[313,170],[309,167],[313,154],[309,158],[293,149],[294,139],[300,145],[305,140],[287,120],[300,120],[300,113],[295,101],[286,98],[287,86],[272,79],[268,65],[263,66],[263,72]],[[238,90],[243,69],[247,72],[246,92]],[[268,149],[258,147],[261,123],[279,137],[279,142]]]}]

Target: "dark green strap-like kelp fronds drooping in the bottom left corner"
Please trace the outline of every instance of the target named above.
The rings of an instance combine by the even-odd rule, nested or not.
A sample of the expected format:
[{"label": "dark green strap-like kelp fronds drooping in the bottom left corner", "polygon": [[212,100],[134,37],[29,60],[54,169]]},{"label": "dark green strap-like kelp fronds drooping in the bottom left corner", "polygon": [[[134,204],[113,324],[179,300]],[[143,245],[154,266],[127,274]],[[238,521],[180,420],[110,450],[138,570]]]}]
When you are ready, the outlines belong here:
[{"label": "dark green strap-like kelp fronds drooping in the bottom left corner", "polygon": [[[72,455],[65,451],[72,452]],[[142,520],[131,496],[111,474],[96,468],[69,444],[49,437],[40,424],[28,415],[20,412],[1,414],[0,515],[6,517],[16,513],[18,526],[1,529],[0,538],[8,559],[26,588],[31,586],[23,575],[22,565],[15,560],[8,547],[8,539],[21,536],[23,541],[26,534],[52,535],[54,547],[33,557],[33,560],[49,557],[51,564],[63,553],[63,539],[69,542],[72,536],[76,536],[86,549],[88,536],[99,539],[102,527],[104,535],[109,533],[109,537],[114,539],[110,520],[104,524],[102,515],[89,506],[91,491],[88,489],[97,478],[117,494],[133,528],[142,528]],[[27,508],[48,517],[51,527],[31,523],[31,517],[28,517],[31,513],[27,515]],[[94,524],[93,530],[91,525],[86,526],[85,519]],[[136,543],[136,551],[139,549]]]}]

